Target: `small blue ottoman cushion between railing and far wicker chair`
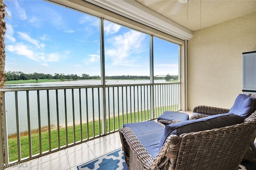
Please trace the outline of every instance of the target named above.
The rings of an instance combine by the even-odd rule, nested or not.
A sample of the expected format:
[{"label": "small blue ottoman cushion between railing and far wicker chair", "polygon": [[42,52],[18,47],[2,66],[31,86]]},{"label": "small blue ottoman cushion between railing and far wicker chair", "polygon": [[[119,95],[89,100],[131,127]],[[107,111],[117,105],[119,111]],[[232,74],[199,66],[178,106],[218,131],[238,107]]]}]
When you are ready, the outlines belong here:
[{"label": "small blue ottoman cushion between railing and far wicker chair", "polygon": [[172,121],[172,120],[189,120],[189,116],[186,113],[178,113],[178,112],[173,112],[173,111],[164,111],[162,113],[162,115],[160,115],[157,118],[158,120],[168,120],[168,121]]}]

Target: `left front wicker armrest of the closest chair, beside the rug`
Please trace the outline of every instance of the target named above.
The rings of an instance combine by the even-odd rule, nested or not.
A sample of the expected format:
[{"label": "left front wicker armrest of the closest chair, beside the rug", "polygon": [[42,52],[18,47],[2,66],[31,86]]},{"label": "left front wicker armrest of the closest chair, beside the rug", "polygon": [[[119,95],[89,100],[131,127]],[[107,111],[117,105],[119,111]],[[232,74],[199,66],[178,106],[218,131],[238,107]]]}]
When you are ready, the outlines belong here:
[{"label": "left front wicker armrest of the closest chair, beside the rug", "polygon": [[154,158],[132,132],[132,129],[123,127],[119,129],[119,133],[128,168],[136,167],[136,169],[148,169],[154,161]]}]

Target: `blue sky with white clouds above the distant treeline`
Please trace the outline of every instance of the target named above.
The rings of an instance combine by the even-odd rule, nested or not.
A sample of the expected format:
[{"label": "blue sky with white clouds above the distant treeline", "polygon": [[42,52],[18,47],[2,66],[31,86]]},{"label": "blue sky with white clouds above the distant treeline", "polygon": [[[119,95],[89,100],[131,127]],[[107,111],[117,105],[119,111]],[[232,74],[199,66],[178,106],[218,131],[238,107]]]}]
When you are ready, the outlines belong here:
[{"label": "blue sky with white clouds above the distant treeline", "polygon": [[[101,74],[100,19],[42,0],[4,0],[6,71]],[[149,35],[104,20],[105,75],[150,75]],[[154,75],[178,75],[178,45],[154,37]]]}]

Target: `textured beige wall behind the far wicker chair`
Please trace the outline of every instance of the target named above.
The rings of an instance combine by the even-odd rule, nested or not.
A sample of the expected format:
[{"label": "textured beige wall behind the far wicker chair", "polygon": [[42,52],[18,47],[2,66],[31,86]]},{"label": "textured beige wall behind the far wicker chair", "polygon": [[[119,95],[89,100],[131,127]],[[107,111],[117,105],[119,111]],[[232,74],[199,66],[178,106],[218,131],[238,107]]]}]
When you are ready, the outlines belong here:
[{"label": "textured beige wall behind the far wicker chair", "polygon": [[188,110],[232,107],[242,93],[242,52],[256,51],[256,13],[195,31],[188,41]]}]

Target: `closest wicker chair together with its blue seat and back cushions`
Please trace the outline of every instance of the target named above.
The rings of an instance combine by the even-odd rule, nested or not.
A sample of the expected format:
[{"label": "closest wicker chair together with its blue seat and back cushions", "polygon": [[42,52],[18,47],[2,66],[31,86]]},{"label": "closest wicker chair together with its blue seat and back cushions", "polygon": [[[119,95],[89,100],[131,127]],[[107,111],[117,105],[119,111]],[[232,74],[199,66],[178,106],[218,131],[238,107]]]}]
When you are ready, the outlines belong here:
[{"label": "closest wicker chair together with its blue seat and back cushions", "polygon": [[170,125],[128,123],[120,129],[126,164],[131,170],[238,170],[256,137],[255,117],[226,112]]}]

